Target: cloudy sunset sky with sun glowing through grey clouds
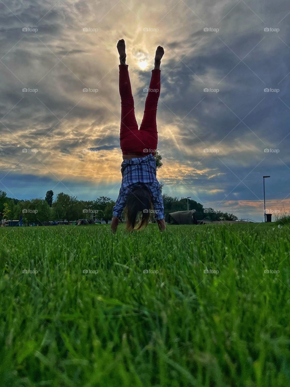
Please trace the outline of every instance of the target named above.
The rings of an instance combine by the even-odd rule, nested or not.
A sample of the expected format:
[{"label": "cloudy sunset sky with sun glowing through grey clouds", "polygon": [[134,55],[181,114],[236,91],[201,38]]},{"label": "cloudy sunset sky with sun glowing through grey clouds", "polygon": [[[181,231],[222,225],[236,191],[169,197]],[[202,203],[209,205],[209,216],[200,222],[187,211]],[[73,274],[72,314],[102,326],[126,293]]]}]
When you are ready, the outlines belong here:
[{"label": "cloudy sunset sky with sun glowing through grey clouds", "polygon": [[[0,1],[0,189],[118,196],[118,39],[140,125],[158,45],[163,193],[239,218],[290,209],[290,4]],[[89,92],[83,91],[89,89]]]}]

